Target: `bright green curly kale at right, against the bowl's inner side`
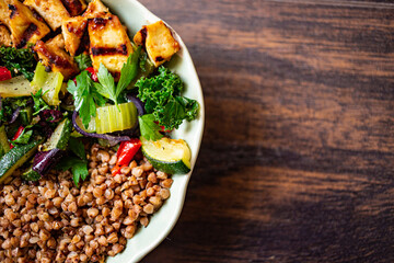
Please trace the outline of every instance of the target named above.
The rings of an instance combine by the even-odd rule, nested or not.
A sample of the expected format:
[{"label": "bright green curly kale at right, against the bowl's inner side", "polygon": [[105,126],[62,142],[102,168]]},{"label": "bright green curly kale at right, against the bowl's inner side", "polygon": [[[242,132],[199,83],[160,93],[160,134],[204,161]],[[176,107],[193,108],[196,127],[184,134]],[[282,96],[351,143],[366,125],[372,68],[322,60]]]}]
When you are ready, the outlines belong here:
[{"label": "bright green curly kale at right, against the bowl's inner side", "polygon": [[178,128],[184,119],[190,122],[198,115],[198,102],[181,96],[184,83],[179,76],[163,66],[159,68],[158,76],[142,78],[136,87],[138,98],[146,103],[147,113],[152,113],[165,129]]}]

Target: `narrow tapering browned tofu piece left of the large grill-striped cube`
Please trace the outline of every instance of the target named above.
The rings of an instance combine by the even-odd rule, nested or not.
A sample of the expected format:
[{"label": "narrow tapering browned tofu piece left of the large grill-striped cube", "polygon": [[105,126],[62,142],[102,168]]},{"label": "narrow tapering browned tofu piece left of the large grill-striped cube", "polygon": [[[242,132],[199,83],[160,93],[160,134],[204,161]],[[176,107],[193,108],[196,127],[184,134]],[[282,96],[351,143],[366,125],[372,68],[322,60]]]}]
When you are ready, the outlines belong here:
[{"label": "narrow tapering browned tofu piece left of the large grill-striped cube", "polygon": [[61,33],[65,38],[66,50],[71,56],[77,55],[86,28],[88,19],[83,16],[71,18],[62,22]]}]

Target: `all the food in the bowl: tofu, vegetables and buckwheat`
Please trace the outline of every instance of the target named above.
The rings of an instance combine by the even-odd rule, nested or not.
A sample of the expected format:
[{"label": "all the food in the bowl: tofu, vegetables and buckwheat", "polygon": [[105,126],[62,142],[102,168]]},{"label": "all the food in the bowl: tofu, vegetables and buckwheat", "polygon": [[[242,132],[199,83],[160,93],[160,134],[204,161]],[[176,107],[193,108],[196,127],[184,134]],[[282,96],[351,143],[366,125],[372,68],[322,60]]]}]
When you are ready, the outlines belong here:
[{"label": "all the food in the bowl: tofu, vegetables and buckwheat", "polygon": [[189,172],[171,130],[199,104],[164,22],[130,41],[101,1],[48,2],[0,0],[0,259],[103,262]]}]

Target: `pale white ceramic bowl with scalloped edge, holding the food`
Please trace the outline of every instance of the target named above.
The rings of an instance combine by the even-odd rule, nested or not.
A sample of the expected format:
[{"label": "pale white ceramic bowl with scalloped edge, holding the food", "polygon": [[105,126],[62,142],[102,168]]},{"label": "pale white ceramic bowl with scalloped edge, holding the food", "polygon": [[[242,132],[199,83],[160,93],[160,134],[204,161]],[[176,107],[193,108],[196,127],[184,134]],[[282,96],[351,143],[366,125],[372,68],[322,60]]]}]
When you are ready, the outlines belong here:
[{"label": "pale white ceramic bowl with scalloped edge, holding the food", "polygon": [[[127,25],[130,37],[132,37],[142,25],[154,23],[160,20],[136,0],[103,0],[103,2],[114,14],[119,16],[124,24]],[[172,134],[173,138],[185,139],[189,145],[192,150],[193,171],[204,132],[204,98],[192,57],[185,44],[175,32],[174,36],[181,44],[181,52],[171,60],[170,69],[179,75],[185,82],[186,90],[183,95],[197,100],[200,104],[198,118],[190,123],[184,122],[179,129]],[[139,262],[164,240],[181,215],[192,171],[188,174],[175,174],[172,176],[174,183],[171,186],[171,197],[165,201],[160,210],[151,217],[148,227],[141,227],[136,236],[128,240],[125,251],[115,258],[109,256],[107,263]]]}]

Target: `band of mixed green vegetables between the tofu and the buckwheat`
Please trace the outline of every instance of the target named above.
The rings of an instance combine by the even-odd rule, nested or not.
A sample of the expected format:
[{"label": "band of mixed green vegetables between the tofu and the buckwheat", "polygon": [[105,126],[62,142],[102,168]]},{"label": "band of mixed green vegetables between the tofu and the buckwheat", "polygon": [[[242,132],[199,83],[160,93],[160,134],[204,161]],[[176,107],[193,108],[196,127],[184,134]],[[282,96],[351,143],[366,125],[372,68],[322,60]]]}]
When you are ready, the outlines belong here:
[{"label": "band of mixed green vegetables between the tofu and the buckwheat", "polygon": [[16,169],[37,181],[50,170],[70,170],[76,185],[89,176],[85,149],[93,142],[117,149],[113,174],[141,150],[158,170],[187,173],[190,150],[169,137],[199,104],[182,95],[184,83],[158,69],[141,47],[128,57],[118,81],[89,55],[74,57],[81,72],[63,83],[30,48],[0,47],[0,182]]}]

